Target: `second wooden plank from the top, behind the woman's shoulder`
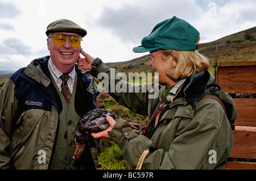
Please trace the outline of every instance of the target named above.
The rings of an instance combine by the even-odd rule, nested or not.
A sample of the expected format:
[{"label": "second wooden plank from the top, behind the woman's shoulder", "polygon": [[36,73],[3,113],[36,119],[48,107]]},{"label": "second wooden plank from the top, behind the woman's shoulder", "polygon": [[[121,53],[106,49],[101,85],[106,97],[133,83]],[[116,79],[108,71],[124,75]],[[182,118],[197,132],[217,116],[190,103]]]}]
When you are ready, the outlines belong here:
[{"label": "second wooden plank from the top, behind the woman's shoulder", "polygon": [[256,99],[233,99],[237,108],[237,120],[233,125],[256,126]]}]

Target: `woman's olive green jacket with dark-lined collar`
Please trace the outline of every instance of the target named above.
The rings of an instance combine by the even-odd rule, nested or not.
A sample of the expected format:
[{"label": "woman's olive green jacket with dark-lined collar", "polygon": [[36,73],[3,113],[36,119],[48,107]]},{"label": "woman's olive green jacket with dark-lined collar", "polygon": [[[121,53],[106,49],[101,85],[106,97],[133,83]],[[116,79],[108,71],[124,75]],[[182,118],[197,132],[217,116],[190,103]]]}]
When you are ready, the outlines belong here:
[{"label": "woman's olive green jacket with dark-lined collar", "polygon": [[[91,72],[95,75],[103,72],[110,76],[110,69],[98,58],[94,60],[92,68]],[[114,75],[117,75],[116,71]],[[110,86],[111,81],[114,81],[113,73],[109,78]],[[182,81],[184,85],[179,93],[177,90],[183,82],[177,83],[165,94],[167,100],[170,100],[171,95],[176,95],[176,98],[160,112],[157,129],[152,123],[147,128],[146,136],[138,136],[126,120],[119,120],[109,132],[109,136],[122,150],[123,157],[134,169],[147,148],[156,150],[147,155],[142,169],[225,169],[234,141],[230,124],[237,117],[235,104],[213,82],[214,76],[210,71],[197,73]],[[130,85],[118,79],[115,80],[115,85],[118,82],[127,87]],[[137,87],[140,92],[118,93],[112,89],[109,94],[120,104],[134,112],[148,115],[150,119],[159,103],[159,97],[150,99],[148,95],[152,94],[152,90],[142,91],[148,85],[132,86]],[[155,85],[152,89],[154,87]],[[160,86],[160,94],[164,90],[166,87]],[[204,94],[217,95],[224,103],[226,113],[217,100],[201,99]]]}]

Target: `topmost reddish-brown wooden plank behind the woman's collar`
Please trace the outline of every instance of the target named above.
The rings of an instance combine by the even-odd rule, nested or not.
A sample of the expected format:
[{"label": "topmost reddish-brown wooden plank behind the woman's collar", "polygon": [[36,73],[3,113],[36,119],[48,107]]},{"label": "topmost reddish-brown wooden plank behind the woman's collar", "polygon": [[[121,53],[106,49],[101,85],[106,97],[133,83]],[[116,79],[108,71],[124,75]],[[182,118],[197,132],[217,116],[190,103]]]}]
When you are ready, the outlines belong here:
[{"label": "topmost reddish-brown wooden plank behind the woman's collar", "polygon": [[217,69],[217,83],[229,94],[256,93],[256,66],[224,66]]}]

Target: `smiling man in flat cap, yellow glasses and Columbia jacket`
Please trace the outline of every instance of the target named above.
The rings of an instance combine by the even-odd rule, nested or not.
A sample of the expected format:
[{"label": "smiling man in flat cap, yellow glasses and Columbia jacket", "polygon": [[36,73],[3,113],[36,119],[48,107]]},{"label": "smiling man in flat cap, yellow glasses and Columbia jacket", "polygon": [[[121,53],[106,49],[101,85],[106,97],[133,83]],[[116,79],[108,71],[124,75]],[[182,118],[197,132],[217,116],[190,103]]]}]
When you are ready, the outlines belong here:
[{"label": "smiling man in flat cap, yellow glasses and Columbia jacket", "polygon": [[50,56],[16,71],[0,92],[1,169],[97,169],[98,140],[75,153],[79,119],[96,107],[97,86],[76,65],[86,30],[67,19],[48,25]]}]

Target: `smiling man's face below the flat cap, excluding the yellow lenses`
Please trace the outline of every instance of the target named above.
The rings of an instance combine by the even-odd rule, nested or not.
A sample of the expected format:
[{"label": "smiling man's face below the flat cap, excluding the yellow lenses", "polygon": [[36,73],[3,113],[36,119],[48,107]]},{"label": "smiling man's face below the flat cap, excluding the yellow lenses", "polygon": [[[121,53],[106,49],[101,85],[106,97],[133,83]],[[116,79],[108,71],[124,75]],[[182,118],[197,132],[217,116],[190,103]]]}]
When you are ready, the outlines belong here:
[{"label": "smiling man's face below the flat cap, excluding the yellow lenses", "polygon": [[[53,36],[55,33],[50,33]],[[79,36],[77,33],[60,32],[58,34]],[[52,38],[47,39],[47,47],[51,55],[51,60],[58,70],[62,73],[68,73],[73,69],[79,59],[81,47],[72,47],[69,43],[69,36],[63,46],[55,45]]]}]

